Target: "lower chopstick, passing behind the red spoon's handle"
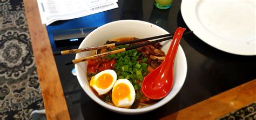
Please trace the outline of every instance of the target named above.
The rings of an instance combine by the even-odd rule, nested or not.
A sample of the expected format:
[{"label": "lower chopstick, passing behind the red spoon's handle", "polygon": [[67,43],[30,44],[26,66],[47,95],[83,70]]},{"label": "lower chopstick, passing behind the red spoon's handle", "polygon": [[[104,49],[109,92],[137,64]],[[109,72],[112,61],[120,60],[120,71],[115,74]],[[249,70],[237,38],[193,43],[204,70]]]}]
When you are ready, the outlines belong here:
[{"label": "lower chopstick, passing behind the red spoon's handle", "polygon": [[[190,33],[193,33],[193,32],[192,31],[186,32],[186,33],[184,33],[184,35],[190,34]],[[173,38],[173,35],[169,36],[169,37],[166,37],[166,38],[163,38],[163,39],[159,39],[159,40],[155,40],[155,41],[151,41],[151,42],[146,42],[146,43],[143,43],[143,44],[136,44],[136,45],[128,47],[128,48],[122,48],[122,49],[117,49],[117,50],[113,50],[113,51],[107,51],[106,53],[97,54],[97,55],[93,55],[93,56],[89,56],[89,57],[82,57],[82,58],[79,58],[79,59],[73,59],[70,62],[66,62],[65,65],[76,64],[76,63],[87,61],[89,59],[96,59],[96,58],[100,58],[100,57],[109,56],[109,55],[112,55],[112,54],[121,53],[123,51],[131,50],[131,49],[137,49],[137,48],[140,48],[140,47],[143,47],[143,46],[148,46],[150,44],[170,40],[172,38]]]}]

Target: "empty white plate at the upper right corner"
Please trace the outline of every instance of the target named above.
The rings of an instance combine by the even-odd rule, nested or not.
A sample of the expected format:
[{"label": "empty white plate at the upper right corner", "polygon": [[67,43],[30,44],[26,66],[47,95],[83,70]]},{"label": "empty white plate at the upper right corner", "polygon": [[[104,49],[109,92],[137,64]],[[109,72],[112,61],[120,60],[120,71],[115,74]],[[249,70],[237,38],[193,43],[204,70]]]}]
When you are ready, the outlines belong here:
[{"label": "empty white plate at the upper right corner", "polygon": [[187,26],[210,46],[237,55],[256,55],[255,0],[183,0]]}]

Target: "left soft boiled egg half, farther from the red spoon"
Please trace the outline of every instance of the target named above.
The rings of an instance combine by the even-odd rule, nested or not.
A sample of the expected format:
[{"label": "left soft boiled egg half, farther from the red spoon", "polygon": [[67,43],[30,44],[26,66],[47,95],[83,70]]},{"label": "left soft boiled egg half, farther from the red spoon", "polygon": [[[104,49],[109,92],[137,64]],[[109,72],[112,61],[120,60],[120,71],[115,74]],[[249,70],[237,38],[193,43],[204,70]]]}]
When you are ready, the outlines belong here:
[{"label": "left soft boiled egg half, farther from the red spoon", "polygon": [[117,81],[117,73],[113,70],[104,70],[92,77],[90,86],[92,86],[99,95],[109,92]]}]

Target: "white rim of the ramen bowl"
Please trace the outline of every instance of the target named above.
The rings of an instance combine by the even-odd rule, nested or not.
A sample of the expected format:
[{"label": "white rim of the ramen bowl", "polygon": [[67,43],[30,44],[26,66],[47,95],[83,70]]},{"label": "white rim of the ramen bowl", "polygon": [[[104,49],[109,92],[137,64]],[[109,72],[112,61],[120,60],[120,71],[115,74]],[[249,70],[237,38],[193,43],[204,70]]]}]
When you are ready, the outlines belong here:
[{"label": "white rim of the ramen bowl", "polygon": [[[165,29],[157,26],[157,25],[154,25],[154,24],[151,24],[150,22],[146,22],[146,21],[140,21],[140,20],[118,20],[118,21],[113,21],[113,22],[109,22],[103,26],[100,26],[98,27],[97,29],[95,29],[94,31],[92,31],[89,35],[86,36],[86,38],[82,41],[82,43],[79,45],[79,48],[81,47],[81,45],[83,44],[83,42],[85,42],[87,40],[87,38],[90,38],[90,36],[92,34],[95,34],[97,31],[99,31],[99,29],[103,29],[104,27],[107,27],[107,26],[110,26],[112,24],[116,24],[118,22],[140,22],[142,24],[149,24],[149,25],[152,25],[154,27],[157,27],[158,29],[161,29],[162,31],[169,33],[167,31],[165,31]],[[184,64],[184,68],[183,68],[183,73],[181,74],[181,78],[180,80],[181,83],[180,83],[180,87],[177,88],[177,91],[173,93],[173,96],[169,96],[168,95],[166,97],[164,97],[164,99],[161,99],[160,101],[158,101],[157,103],[154,103],[152,104],[151,106],[149,107],[145,107],[145,108],[139,108],[139,109],[127,109],[127,108],[118,108],[118,107],[115,107],[115,106],[112,106],[110,104],[107,104],[106,102],[100,100],[100,99],[94,99],[95,96],[92,96],[92,94],[90,93],[90,91],[87,91],[87,89],[85,87],[83,87],[82,85],[83,84],[83,79],[80,78],[80,73],[77,72],[77,79],[78,79],[78,82],[80,84],[80,86],[83,88],[84,92],[93,100],[95,101],[96,103],[100,104],[100,106],[104,107],[104,108],[107,108],[107,109],[110,109],[112,111],[116,111],[116,112],[119,112],[119,113],[127,113],[127,114],[139,114],[139,113],[143,113],[143,112],[147,112],[147,111],[151,111],[151,110],[154,110],[154,109],[157,109],[161,106],[163,106],[164,104],[166,104],[167,102],[171,101],[173,99],[173,97],[175,97],[178,92],[180,91],[180,89],[183,87],[184,83],[185,83],[185,79],[186,79],[186,73],[187,73],[187,61],[186,61],[186,56],[185,56],[185,53],[184,53],[184,50],[181,48],[181,46],[179,45],[179,49],[181,50],[181,56],[184,58],[184,61],[185,61],[185,64]],[[78,54],[76,54],[76,59],[78,58]],[[78,65],[75,64],[75,69],[76,71],[78,71]],[[97,97],[97,96],[96,96]]]}]

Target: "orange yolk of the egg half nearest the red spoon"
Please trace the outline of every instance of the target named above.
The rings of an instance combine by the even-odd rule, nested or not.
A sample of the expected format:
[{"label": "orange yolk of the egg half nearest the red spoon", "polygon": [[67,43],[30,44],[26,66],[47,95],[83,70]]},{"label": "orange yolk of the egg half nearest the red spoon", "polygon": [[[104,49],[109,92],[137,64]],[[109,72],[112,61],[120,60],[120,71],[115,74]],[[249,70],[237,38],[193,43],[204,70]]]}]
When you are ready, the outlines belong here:
[{"label": "orange yolk of the egg half nearest the red spoon", "polygon": [[115,106],[118,106],[118,103],[120,100],[123,100],[125,98],[130,99],[130,88],[126,84],[118,84],[113,88],[112,92],[112,101]]}]

